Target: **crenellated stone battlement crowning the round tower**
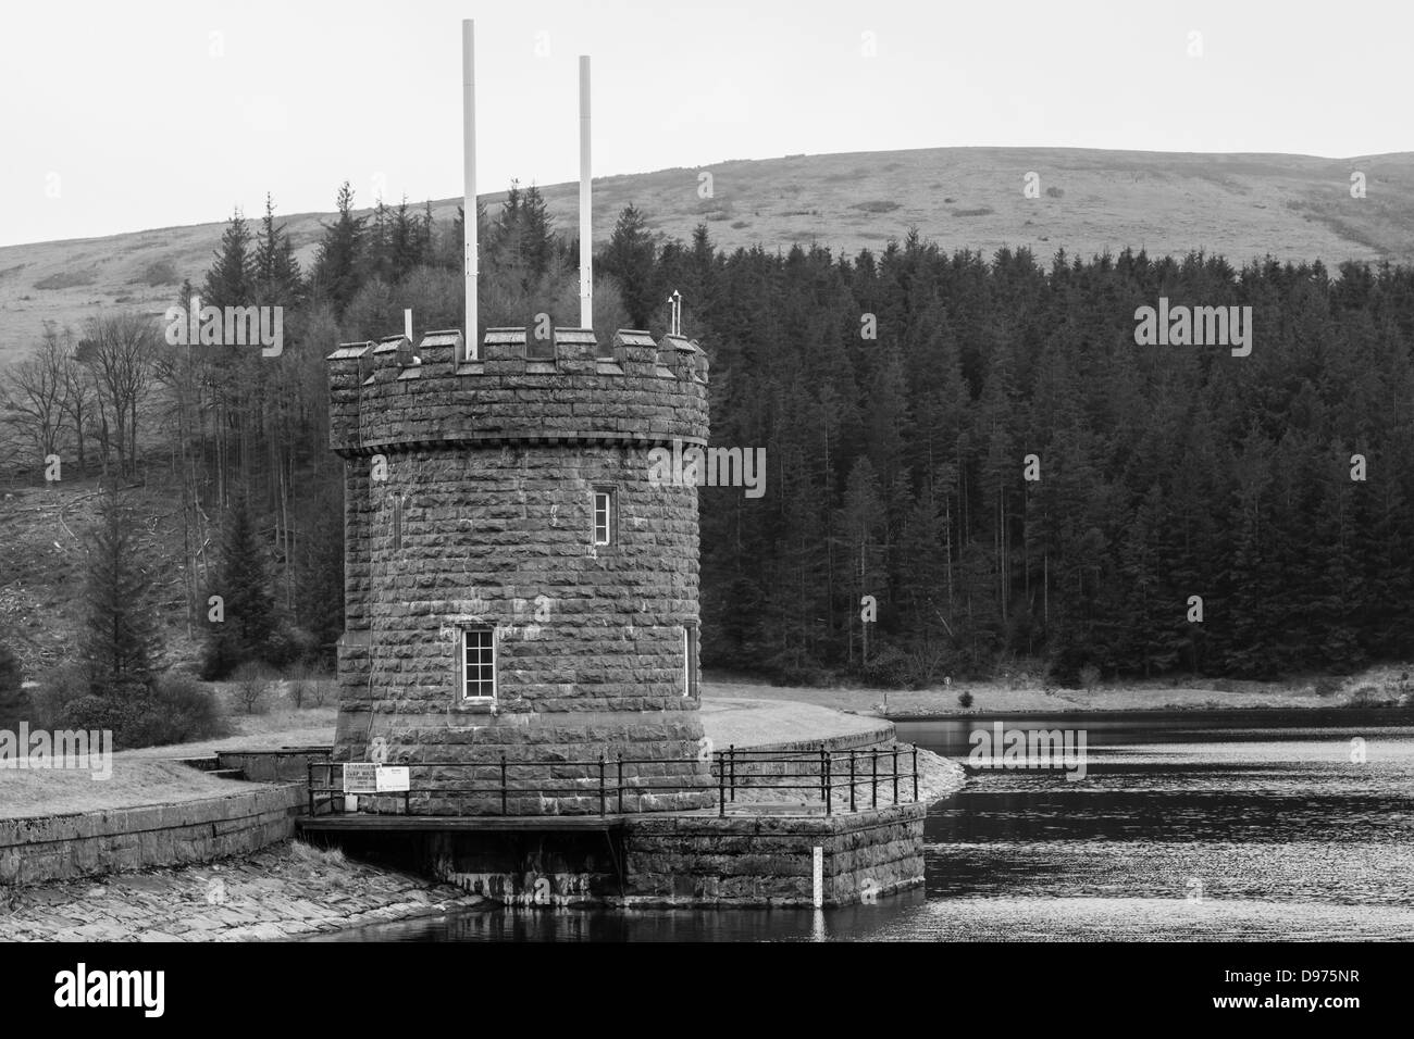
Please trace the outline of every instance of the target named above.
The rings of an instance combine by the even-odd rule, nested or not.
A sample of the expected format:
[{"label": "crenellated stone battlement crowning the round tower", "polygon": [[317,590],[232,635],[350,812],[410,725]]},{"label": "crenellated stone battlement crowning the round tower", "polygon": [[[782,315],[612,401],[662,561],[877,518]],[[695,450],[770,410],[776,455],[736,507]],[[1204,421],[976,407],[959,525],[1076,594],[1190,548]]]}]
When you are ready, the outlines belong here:
[{"label": "crenellated stone battlement crowning the round tower", "polygon": [[475,360],[458,329],[341,344],[328,356],[329,445],[345,458],[461,444],[707,442],[707,355],[621,329],[489,328]]}]

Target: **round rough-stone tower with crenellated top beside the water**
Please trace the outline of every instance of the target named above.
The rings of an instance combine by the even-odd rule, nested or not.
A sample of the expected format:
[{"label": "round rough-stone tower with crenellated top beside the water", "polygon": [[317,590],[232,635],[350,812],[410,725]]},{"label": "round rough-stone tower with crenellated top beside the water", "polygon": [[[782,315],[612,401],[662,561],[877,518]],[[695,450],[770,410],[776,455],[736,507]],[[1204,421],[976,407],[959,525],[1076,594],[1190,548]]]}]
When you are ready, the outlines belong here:
[{"label": "round rough-stone tower with crenellated top beside the water", "polygon": [[706,447],[703,351],[621,331],[601,356],[587,329],[493,328],[474,360],[460,332],[430,332],[328,363],[345,459],[335,761],[411,765],[417,814],[598,813],[601,755],[609,811],[619,756],[625,811],[710,806],[697,486],[650,458]]}]

